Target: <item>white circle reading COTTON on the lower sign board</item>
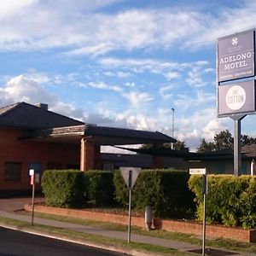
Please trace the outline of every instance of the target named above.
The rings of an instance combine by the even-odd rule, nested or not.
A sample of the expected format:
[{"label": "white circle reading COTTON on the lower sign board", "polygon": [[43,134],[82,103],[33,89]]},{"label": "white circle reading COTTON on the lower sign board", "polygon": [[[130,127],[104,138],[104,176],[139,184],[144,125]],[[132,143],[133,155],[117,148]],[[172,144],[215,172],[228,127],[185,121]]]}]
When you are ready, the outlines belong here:
[{"label": "white circle reading COTTON on the lower sign board", "polygon": [[225,100],[230,109],[238,110],[246,102],[246,92],[240,85],[234,85],[227,91]]}]

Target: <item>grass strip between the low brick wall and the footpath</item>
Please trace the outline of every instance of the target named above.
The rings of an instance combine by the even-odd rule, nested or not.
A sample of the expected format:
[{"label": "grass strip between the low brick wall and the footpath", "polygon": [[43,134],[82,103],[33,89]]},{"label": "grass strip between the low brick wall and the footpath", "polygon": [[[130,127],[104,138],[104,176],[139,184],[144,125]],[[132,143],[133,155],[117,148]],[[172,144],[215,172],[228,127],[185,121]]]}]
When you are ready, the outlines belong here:
[{"label": "grass strip between the low brick wall and the footpath", "polygon": [[[46,214],[46,213],[38,213],[38,212],[35,213],[35,216],[37,216],[38,218],[55,219],[55,220],[63,221],[67,223],[97,226],[97,227],[102,227],[103,229],[106,229],[106,230],[127,231],[127,226],[123,224],[113,224],[113,223],[103,222],[103,221],[72,218],[72,217],[65,217],[65,216],[59,216],[55,214]],[[131,232],[134,234],[143,235],[143,236],[153,236],[153,237],[164,238],[164,239],[169,239],[174,241],[189,242],[192,244],[196,244],[198,246],[201,246],[201,242],[202,242],[201,237],[191,236],[191,235],[177,233],[177,232],[168,232],[165,230],[148,231],[148,230],[143,230],[141,228],[132,226]],[[243,253],[256,253],[256,243],[246,243],[246,242],[240,242],[240,241],[232,241],[228,239],[215,239],[215,240],[207,240],[206,245],[208,247],[218,247],[218,248],[223,248],[225,250],[231,250],[231,251],[237,251],[237,252],[243,252]]]}]

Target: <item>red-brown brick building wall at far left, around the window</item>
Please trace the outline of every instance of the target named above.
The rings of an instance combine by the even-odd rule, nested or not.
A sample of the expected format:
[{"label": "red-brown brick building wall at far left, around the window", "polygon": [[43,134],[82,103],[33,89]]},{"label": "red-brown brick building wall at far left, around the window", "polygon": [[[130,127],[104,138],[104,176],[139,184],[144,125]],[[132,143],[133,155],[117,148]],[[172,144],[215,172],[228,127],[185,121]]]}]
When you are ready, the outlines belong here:
[{"label": "red-brown brick building wall at far left, around the window", "polygon": [[[79,165],[80,144],[33,142],[20,140],[23,131],[18,129],[0,129],[0,189],[30,189],[28,166],[40,163],[42,170],[49,163]],[[4,181],[4,165],[6,161],[21,163],[21,180]]]}]

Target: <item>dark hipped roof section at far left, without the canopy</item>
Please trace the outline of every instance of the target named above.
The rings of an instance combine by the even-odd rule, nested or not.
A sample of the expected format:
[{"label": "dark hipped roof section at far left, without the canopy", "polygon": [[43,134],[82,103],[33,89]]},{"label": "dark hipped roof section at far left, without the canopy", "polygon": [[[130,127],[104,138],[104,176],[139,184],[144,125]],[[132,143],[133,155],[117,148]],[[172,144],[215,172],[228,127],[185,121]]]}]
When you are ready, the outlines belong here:
[{"label": "dark hipped roof section at far left, without the canopy", "polygon": [[0,126],[4,127],[47,129],[83,124],[79,120],[68,118],[44,108],[38,108],[26,102],[0,108]]}]

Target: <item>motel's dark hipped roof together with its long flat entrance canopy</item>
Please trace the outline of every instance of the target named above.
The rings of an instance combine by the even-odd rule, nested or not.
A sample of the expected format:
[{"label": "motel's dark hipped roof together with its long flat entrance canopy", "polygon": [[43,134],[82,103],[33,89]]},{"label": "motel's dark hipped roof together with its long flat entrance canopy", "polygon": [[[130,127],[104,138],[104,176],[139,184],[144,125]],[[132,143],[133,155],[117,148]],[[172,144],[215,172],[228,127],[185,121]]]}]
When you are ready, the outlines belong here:
[{"label": "motel's dark hipped roof together with its long flat entrance canopy", "polygon": [[79,143],[81,137],[87,137],[98,145],[176,142],[172,137],[158,131],[84,125],[79,120],[51,112],[45,108],[38,108],[26,102],[0,108],[0,126],[25,129],[26,131],[20,139]]}]

